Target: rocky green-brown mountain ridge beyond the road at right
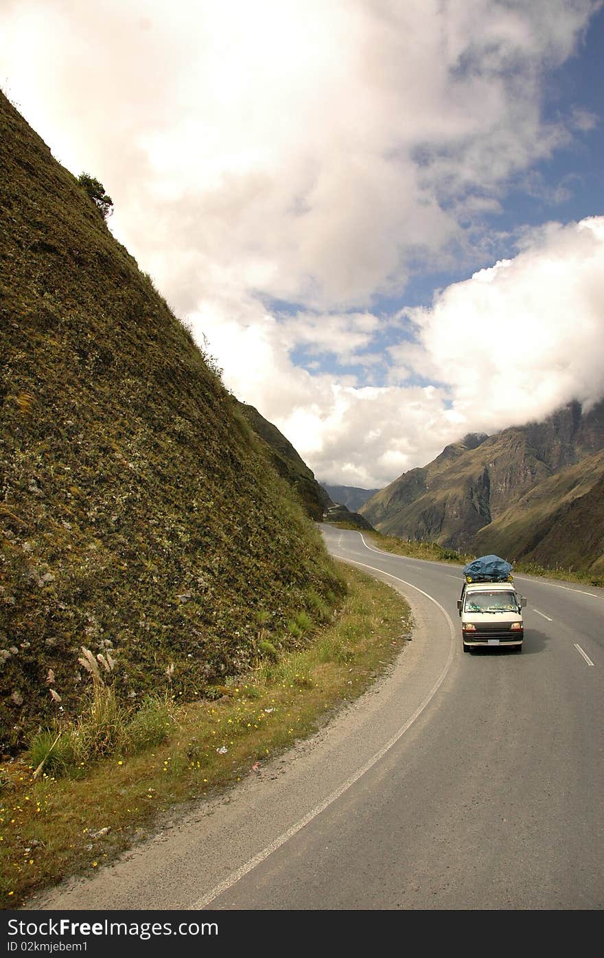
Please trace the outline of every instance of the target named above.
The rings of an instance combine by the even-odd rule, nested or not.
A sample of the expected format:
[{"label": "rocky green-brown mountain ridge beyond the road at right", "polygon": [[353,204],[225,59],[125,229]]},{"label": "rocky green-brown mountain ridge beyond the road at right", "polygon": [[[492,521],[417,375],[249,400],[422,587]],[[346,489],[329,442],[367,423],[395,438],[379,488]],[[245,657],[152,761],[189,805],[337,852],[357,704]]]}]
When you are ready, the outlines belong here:
[{"label": "rocky green-brown mountain ridge beyond the road at right", "polygon": [[359,512],[387,535],[604,571],[603,453],[604,400],[585,414],[570,402],[544,422],[446,446]]}]

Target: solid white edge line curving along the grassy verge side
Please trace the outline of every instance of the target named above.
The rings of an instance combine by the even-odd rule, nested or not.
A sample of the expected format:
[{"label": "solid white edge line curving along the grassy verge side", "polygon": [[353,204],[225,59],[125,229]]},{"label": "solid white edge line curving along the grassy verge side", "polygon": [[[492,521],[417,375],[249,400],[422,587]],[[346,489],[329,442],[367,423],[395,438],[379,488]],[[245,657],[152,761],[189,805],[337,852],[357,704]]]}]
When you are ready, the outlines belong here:
[{"label": "solid white edge line curving along the grassy verge side", "polygon": [[[363,536],[361,536],[361,538],[363,538]],[[373,551],[377,552],[378,550],[373,550]],[[388,555],[388,553],[386,553],[385,555]],[[348,778],[347,781],[343,783],[343,785],[336,788],[335,791],[332,791],[331,794],[328,795],[327,798],[325,798],[324,802],[322,802],[320,805],[315,806],[315,808],[310,810],[308,814],[304,815],[303,818],[300,819],[300,821],[296,822],[295,825],[292,825],[292,827],[288,829],[287,832],[283,832],[282,834],[280,834],[279,838],[276,838],[274,842],[271,842],[270,845],[267,845],[267,847],[263,849],[261,852],[259,852],[257,855],[255,855],[254,858],[250,858],[250,860],[247,861],[245,865],[242,865],[241,868],[238,868],[235,872],[233,872],[233,874],[230,875],[229,878],[225,878],[225,880],[221,881],[220,884],[216,885],[212,889],[212,891],[208,892],[207,895],[204,895],[202,899],[199,899],[199,901],[195,901],[194,904],[191,904],[190,907],[187,909],[187,911],[199,911],[202,908],[207,907],[207,905],[209,905],[211,901],[213,901],[219,895],[224,894],[224,892],[228,891],[229,888],[232,888],[233,885],[235,885],[240,878],[244,878],[246,875],[248,875],[249,872],[253,871],[253,869],[255,869],[257,865],[261,864],[266,858],[268,858],[269,855],[272,855],[273,852],[277,852],[277,850],[281,847],[281,845],[284,845],[286,841],[289,841],[290,838],[293,838],[294,835],[300,832],[305,825],[308,825],[308,823],[311,822],[313,818],[316,818],[317,815],[320,815],[322,811],[327,809],[338,798],[340,798],[340,796],[343,795],[344,792],[347,791],[349,787],[353,786],[355,782],[358,782],[358,780],[363,775],[365,775],[366,772],[369,771],[369,768],[372,768],[372,766],[376,764],[377,762],[379,762],[380,759],[383,759],[386,753],[391,750],[392,745],[395,745],[396,742],[400,738],[402,738],[405,732],[407,732],[408,729],[411,728],[411,726],[414,724],[414,721],[419,718],[419,716],[424,711],[426,706],[432,701],[434,696],[436,696],[436,692],[442,685],[446,674],[449,672],[449,669],[451,668],[451,663],[453,662],[453,655],[455,650],[455,628],[453,626],[453,622],[451,621],[451,617],[449,616],[446,609],[444,609],[440,603],[436,602],[436,599],[433,599],[432,596],[428,595],[427,592],[424,592],[422,589],[417,588],[416,585],[412,585],[411,582],[405,582],[403,579],[398,579],[397,576],[391,576],[390,572],[384,572],[383,569],[376,569],[374,568],[374,566],[366,565],[365,562],[357,562],[355,559],[344,559],[344,561],[352,562],[354,565],[362,565],[365,569],[372,569],[373,572],[379,572],[381,575],[388,576],[389,579],[393,579],[395,582],[402,582],[403,585],[409,585],[410,588],[415,589],[417,592],[421,592],[422,596],[425,596],[427,599],[433,602],[437,606],[437,608],[440,609],[445,619],[447,620],[449,624],[449,629],[451,631],[451,646],[449,649],[449,657],[447,659],[446,665],[444,669],[442,670],[442,672],[440,673],[440,675],[438,676],[438,678],[436,679],[434,686],[432,687],[428,695],[424,698],[421,705],[419,705],[418,708],[415,709],[411,719],[408,719],[408,721],[405,722],[403,727],[400,728],[394,736],[392,736],[391,740],[387,741],[387,743],[382,748],[380,748],[379,752],[376,752],[375,755],[373,755],[369,759],[369,762],[367,762],[361,768],[359,768],[358,771],[354,773],[354,775],[351,775],[350,778]]]}]

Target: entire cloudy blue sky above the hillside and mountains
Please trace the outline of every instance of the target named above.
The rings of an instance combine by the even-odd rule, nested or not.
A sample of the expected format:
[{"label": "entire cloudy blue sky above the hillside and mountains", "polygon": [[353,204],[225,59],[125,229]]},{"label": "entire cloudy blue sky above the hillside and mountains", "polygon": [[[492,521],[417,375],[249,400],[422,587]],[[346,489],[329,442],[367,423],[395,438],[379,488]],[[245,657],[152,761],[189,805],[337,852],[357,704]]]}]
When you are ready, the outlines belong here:
[{"label": "entire cloudy blue sky above the hillside and mountains", "polygon": [[603,395],[599,0],[4,0],[0,36],[12,102],[319,479]]}]

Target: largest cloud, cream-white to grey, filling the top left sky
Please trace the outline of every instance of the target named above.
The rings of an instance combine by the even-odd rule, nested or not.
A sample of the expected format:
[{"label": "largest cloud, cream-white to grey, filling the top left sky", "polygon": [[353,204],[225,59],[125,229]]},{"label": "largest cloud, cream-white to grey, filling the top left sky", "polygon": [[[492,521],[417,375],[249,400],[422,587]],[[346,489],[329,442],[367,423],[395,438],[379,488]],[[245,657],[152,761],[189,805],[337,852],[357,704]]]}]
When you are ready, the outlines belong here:
[{"label": "largest cloud, cream-white to grey, filling the top left sky", "polygon": [[538,76],[590,9],[23,0],[0,75],[177,308],[224,285],[358,308],[461,239],[443,196],[497,191],[568,135]]}]

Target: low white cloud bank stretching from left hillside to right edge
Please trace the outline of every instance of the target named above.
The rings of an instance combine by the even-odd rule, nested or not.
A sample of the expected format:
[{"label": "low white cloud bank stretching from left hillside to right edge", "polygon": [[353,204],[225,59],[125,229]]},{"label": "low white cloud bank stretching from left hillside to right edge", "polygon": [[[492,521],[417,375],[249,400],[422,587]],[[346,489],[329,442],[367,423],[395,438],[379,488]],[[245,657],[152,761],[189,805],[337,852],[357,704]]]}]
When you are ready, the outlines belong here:
[{"label": "low white cloud bank stretching from left hillside to right edge", "polygon": [[[299,315],[286,332],[268,313],[198,322],[235,395],[274,422],[319,478],[382,487],[466,432],[604,395],[604,217],[526,232],[514,259],[407,313],[415,341],[391,347],[392,385],[380,388],[291,365],[288,347],[312,339],[316,316],[304,328]],[[370,334],[375,317],[362,318]],[[346,337],[346,317],[337,319]],[[412,376],[440,385],[414,385]]]}]

